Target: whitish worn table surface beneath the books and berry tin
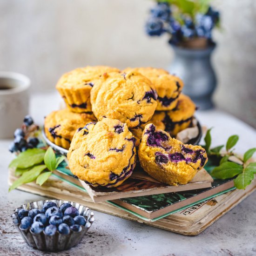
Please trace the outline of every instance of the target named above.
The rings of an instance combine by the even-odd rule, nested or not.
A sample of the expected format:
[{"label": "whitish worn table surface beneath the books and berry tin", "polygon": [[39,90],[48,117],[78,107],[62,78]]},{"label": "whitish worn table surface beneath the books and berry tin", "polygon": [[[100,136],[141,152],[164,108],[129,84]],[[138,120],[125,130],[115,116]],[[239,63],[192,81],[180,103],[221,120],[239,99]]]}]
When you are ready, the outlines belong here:
[{"label": "whitish worn table surface beneath the books and berry tin", "polygon": [[[31,99],[30,114],[41,124],[45,115],[59,108],[59,102],[56,92],[35,94]],[[202,125],[214,127],[213,146],[225,142],[233,134],[240,136],[236,148],[241,152],[256,146],[256,130],[235,117],[220,110],[198,112],[196,116]],[[7,166],[13,159],[13,155],[7,150],[9,143],[10,140],[0,140],[0,255],[47,255],[24,243],[9,217],[13,209],[24,202],[43,199],[39,195],[20,190],[7,192]],[[194,237],[178,235],[96,211],[94,213],[96,221],[82,242],[75,248],[58,254],[256,255],[256,193]]]}]

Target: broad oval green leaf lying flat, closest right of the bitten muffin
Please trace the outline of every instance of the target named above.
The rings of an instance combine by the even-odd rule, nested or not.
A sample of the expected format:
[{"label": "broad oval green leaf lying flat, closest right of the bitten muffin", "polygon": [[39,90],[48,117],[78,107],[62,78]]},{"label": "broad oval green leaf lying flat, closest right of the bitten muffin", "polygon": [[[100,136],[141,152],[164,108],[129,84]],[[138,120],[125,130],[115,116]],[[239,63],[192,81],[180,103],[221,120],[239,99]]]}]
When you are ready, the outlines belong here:
[{"label": "broad oval green leaf lying flat, closest right of the bitten muffin", "polygon": [[224,162],[214,168],[211,175],[218,179],[232,178],[243,172],[243,166],[234,162]]}]

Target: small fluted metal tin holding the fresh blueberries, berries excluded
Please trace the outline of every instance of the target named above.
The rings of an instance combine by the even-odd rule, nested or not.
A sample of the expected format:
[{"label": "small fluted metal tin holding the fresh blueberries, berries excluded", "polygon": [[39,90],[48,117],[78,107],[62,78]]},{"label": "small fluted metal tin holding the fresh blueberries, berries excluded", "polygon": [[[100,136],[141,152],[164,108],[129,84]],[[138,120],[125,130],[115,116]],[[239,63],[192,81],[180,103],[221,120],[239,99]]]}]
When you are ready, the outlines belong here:
[{"label": "small fluted metal tin holding the fresh blueberries, berries excluded", "polygon": [[[81,216],[85,217],[85,219],[87,220],[86,225],[81,226],[82,230],[80,232],[74,232],[70,229],[69,234],[63,235],[60,234],[59,231],[57,231],[54,236],[46,235],[44,231],[40,232],[39,234],[34,234],[30,228],[22,229],[20,224],[20,218],[18,216],[19,210],[42,209],[43,204],[49,201],[55,202],[58,207],[60,207],[61,204],[64,202],[70,203],[72,206],[78,209]],[[79,203],[53,199],[23,204],[19,208],[15,209],[12,218],[15,228],[20,232],[20,235],[23,237],[24,241],[33,248],[42,251],[62,251],[70,249],[71,247],[74,247],[81,242],[83,236],[86,234],[86,232],[94,222],[94,213],[89,208]]]}]

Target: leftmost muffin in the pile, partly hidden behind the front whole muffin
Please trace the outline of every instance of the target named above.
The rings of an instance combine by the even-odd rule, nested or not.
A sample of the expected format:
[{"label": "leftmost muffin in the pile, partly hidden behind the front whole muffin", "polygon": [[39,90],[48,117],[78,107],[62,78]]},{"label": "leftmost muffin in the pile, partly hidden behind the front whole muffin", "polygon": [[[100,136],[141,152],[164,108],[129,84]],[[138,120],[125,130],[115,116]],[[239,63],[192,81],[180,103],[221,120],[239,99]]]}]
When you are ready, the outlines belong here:
[{"label": "leftmost muffin in the pile, partly hidden behind the front whole muffin", "polygon": [[54,144],[68,149],[75,131],[91,121],[96,121],[93,114],[74,113],[68,108],[53,111],[45,118],[45,135]]}]

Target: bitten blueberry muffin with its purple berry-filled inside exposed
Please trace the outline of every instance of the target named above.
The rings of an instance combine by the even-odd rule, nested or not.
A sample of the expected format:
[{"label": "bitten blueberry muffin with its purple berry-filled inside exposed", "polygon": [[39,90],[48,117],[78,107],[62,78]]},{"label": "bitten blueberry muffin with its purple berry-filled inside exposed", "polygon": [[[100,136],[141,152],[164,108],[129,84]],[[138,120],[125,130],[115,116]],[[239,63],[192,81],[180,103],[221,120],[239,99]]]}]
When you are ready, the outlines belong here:
[{"label": "bitten blueberry muffin with its purple berry-filled inside exposed", "polygon": [[183,144],[148,124],[139,147],[141,167],[156,180],[169,185],[184,185],[207,163],[201,146]]}]

